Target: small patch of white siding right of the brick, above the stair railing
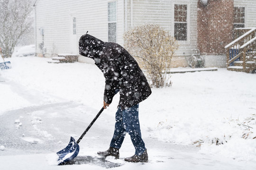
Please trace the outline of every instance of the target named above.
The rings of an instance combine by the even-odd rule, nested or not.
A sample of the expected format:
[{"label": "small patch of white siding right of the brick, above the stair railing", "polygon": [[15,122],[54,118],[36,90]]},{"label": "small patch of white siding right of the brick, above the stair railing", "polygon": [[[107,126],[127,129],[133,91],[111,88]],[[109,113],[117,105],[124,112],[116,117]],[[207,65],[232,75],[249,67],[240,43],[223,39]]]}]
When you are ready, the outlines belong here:
[{"label": "small patch of white siding right of the brick, above the stair railing", "polygon": [[245,27],[256,27],[256,0],[234,0],[234,7],[245,7]]}]

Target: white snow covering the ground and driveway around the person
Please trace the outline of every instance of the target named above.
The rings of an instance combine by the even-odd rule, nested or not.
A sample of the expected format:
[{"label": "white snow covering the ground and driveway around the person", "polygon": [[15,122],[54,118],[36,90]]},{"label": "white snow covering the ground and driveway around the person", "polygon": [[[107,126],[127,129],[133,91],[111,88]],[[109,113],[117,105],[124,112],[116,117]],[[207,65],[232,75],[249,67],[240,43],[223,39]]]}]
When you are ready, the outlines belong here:
[{"label": "white snow covering the ground and driveway around the person", "polygon": [[[78,160],[90,161],[65,166],[51,162],[51,154],[63,149],[70,136],[77,139],[101,109],[101,71],[92,64],[49,64],[37,57],[9,60],[12,69],[0,76],[0,169],[108,168],[96,153],[110,143],[119,94],[79,144]],[[173,74],[172,81],[172,87],[153,88],[140,103],[150,162],[123,161],[134,153],[127,135],[121,159],[107,159],[112,168],[253,170],[256,76],[219,68]]]}]

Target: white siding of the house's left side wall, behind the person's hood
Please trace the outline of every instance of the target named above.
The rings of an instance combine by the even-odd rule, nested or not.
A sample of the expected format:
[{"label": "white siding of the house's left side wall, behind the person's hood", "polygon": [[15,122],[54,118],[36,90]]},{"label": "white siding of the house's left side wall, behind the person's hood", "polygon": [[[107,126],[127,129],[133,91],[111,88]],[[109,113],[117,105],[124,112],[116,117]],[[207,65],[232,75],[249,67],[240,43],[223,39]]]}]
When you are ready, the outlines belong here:
[{"label": "white siding of the house's left side wall, behind the person's hood", "polygon": [[[78,40],[86,31],[102,41],[108,41],[108,2],[110,1],[113,0],[38,0],[37,46],[42,42],[38,30],[41,27],[45,31],[44,42],[48,56],[52,53],[78,54]],[[75,41],[72,41],[72,17],[76,17]],[[117,41],[121,44],[123,31],[124,1],[117,0]],[[39,48],[37,53],[41,53]]]}]

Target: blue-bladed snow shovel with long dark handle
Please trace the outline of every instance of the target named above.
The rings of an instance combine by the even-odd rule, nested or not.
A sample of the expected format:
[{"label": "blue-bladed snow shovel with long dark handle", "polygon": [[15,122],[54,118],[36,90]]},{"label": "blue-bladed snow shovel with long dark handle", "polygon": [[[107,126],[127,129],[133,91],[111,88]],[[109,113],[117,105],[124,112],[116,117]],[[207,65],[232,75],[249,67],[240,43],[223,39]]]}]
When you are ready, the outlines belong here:
[{"label": "blue-bladed snow shovel with long dark handle", "polygon": [[79,153],[79,142],[82,140],[83,136],[87,133],[87,131],[91,128],[93,123],[96,121],[96,119],[99,118],[104,108],[102,107],[99,113],[95,116],[95,118],[91,121],[90,125],[85,129],[85,131],[82,133],[82,135],[79,137],[77,142],[75,142],[75,139],[71,136],[69,144],[61,151],[57,152],[57,155],[59,156],[59,159],[57,161],[58,165],[63,165],[68,161],[73,160]]}]

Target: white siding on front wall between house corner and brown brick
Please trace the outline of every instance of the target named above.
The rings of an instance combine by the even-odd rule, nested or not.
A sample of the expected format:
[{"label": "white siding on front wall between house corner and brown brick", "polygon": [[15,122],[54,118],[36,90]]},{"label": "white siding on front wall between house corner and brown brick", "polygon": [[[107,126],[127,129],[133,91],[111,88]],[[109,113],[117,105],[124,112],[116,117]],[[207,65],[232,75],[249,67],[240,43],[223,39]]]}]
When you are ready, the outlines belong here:
[{"label": "white siding on front wall between house corner and brown brick", "polygon": [[176,63],[186,63],[183,56],[190,56],[191,49],[197,48],[197,0],[133,0],[133,26],[154,23],[174,36],[174,4],[188,6],[188,39],[178,41],[174,58]]}]

